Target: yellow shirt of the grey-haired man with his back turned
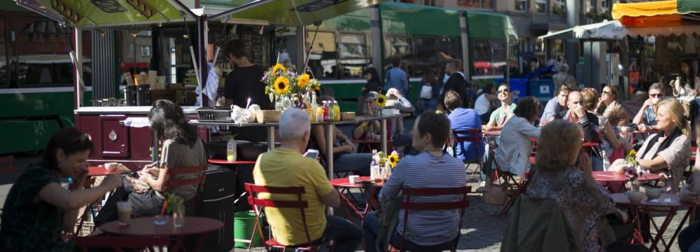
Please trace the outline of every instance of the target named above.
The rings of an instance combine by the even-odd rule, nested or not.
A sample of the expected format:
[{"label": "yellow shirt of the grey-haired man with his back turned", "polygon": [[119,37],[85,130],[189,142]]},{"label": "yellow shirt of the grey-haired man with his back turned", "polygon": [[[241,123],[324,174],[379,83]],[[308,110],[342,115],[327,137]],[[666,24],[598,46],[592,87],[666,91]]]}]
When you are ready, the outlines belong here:
[{"label": "yellow shirt of the grey-haired man with his back turned", "polygon": [[[302,186],[306,193],[302,200],[308,202],[304,209],[307,228],[311,241],[323,236],[325,230],[325,206],[321,195],[328,195],[333,190],[325,171],[312,158],[305,158],[298,151],[287,148],[276,148],[274,151],[260,155],[253,169],[255,184],[260,186],[290,187]],[[280,195],[262,193],[262,199],[297,200],[296,195]],[[267,222],[272,228],[275,239],[283,245],[307,243],[304,223],[299,209],[265,208]]]}]

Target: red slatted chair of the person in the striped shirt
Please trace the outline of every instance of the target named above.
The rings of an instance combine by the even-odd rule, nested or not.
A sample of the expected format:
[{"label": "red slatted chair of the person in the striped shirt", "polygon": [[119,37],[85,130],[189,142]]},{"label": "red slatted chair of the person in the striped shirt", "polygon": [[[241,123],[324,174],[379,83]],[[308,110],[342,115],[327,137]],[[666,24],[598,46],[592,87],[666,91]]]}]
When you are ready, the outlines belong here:
[{"label": "red slatted chair of the person in the striped shirt", "polygon": [[[406,228],[408,227],[408,216],[409,211],[426,211],[426,210],[453,210],[459,209],[459,228],[462,229],[462,218],[464,217],[464,211],[469,207],[469,200],[467,194],[472,191],[471,186],[461,186],[457,188],[403,188],[402,193],[405,197],[405,201],[399,206],[403,209],[403,237],[401,242],[406,240]],[[442,196],[442,195],[461,195],[461,200],[453,202],[413,202],[412,197],[426,197],[426,196]],[[454,239],[454,245],[450,248],[450,251],[456,251],[457,243],[459,242],[459,235],[461,232],[457,232],[457,237]],[[396,245],[396,244],[393,244]],[[404,249],[394,248],[390,245],[390,251],[405,251]],[[404,247],[401,244],[401,248]]]}]

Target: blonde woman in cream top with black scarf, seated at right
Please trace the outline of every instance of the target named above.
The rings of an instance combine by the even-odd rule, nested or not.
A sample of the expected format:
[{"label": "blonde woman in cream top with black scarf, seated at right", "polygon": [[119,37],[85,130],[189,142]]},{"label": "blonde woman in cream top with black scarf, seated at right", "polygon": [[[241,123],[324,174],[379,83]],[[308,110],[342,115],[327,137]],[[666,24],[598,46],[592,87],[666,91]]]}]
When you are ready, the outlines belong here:
[{"label": "blonde woman in cream top with black scarf, seated at right", "polygon": [[[666,99],[659,104],[656,129],[657,134],[647,137],[636,154],[639,166],[646,172],[661,174],[671,193],[678,192],[678,184],[690,162],[690,141],[681,134],[688,124],[683,116],[683,107],[676,99]],[[623,159],[615,160],[611,169],[624,172]]]}]

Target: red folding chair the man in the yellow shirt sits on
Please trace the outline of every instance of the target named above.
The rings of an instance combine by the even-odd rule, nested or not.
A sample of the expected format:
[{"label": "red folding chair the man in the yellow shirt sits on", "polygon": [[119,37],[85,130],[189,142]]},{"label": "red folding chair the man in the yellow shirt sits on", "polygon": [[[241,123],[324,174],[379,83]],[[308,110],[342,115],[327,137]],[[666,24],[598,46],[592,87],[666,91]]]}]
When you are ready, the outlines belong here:
[{"label": "red folding chair the man in the yellow shirt sits on", "polygon": [[[260,225],[260,215],[265,207],[274,208],[286,208],[286,209],[299,209],[301,213],[302,223],[304,223],[304,232],[306,233],[307,243],[297,244],[293,246],[285,246],[279,244],[274,237],[270,237],[265,241],[265,250],[269,251],[269,248],[281,248],[282,251],[287,251],[291,249],[292,251],[318,251],[318,247],[326,245],[314,245],[311,241],[311,236],[309,235],[309,228],[307,227],[306,214],[304,214],[304,209],[309,207],[309,203],[306,200],[302,200],[302,194],[306,193],[306,189],[301,186],[297,187],[272,187],[272,186],[257,186],[251,183],[245,184],[246,191],[248,191],[248,202],[253,207],[255,212],[255,227],[253,228],[253,234],[251,234],[251,240],[255,239],[255,230],[258,231],[260,237],[265,237],[262,235],[262,225]],[[270,194],[286,194],[286,195],[296,195],[297,200],[265,200],[258,197],[258,193],[270,193]],[[293,216],[288,216],[289,218],[294,218]],[[252,243],[251,243],[252,244]],[[332,241],[328,241],[330,245],[330,251],[333,250]],[[248,244],[248,249],[250,248]]]}]

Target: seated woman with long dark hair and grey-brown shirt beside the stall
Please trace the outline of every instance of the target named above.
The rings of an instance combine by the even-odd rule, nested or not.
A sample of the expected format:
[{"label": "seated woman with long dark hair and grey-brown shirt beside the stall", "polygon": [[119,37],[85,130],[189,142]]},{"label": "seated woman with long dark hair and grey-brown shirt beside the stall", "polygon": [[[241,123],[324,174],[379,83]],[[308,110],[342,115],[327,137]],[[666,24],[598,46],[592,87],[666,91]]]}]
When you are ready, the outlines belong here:
[{"label": "seated woman with long dark hair and grey-brown shirt beside the stall", "polygon": [[162,141],[160,165],[146,165],[139,172],[139,177],[128,176],[124,179],[124,188],[117,190],[109,197],[99,211],[95,224],[100,225],[117,218],[116,202],[129,201],[132,203],[132,214],[137,217],[155,216],[160,214],[165,193],[181,197],[185,201],[187,214],[194,211],[196,185],[174,186],[165,188],[168,179],[195,179],[202,174],[181,174],[168,177],[168,169],[180,167],[196,167],[207,165],[204,153],[204,143],[197,137],[195,127],[188,122],[182,108],[166,99],[160,99],[153,104],[148,113],[151,129]]}]

